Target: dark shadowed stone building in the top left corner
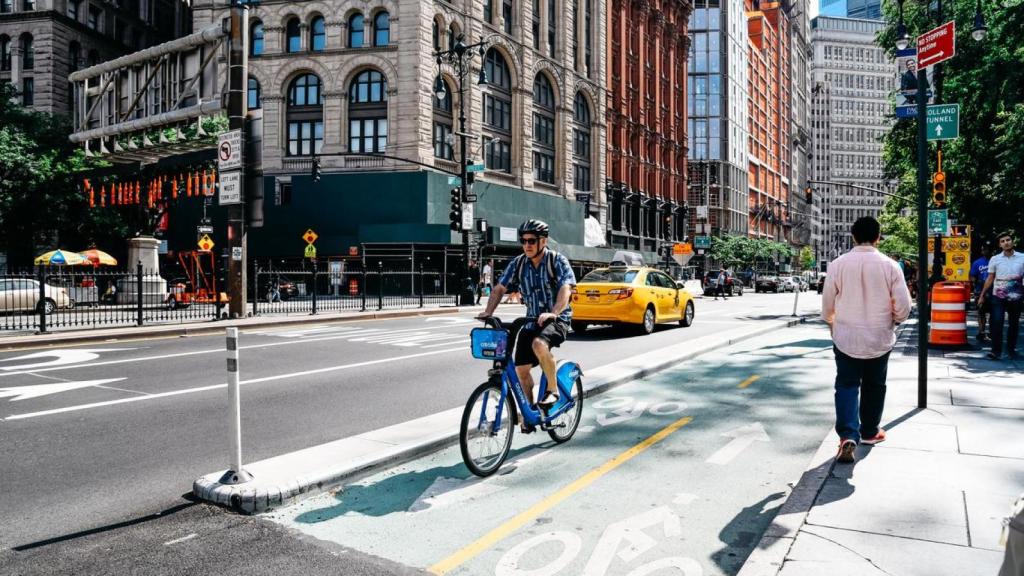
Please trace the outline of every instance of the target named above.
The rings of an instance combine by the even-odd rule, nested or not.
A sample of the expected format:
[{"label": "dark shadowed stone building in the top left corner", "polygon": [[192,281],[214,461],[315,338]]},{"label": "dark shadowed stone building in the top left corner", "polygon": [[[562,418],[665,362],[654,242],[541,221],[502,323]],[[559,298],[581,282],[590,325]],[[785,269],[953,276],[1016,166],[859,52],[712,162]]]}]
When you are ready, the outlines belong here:
[{"label": "dark shadowed stone building in the top left corner", "polygon": [[68,76],[191,32],[177,0],[0,0],[0,82],[22,104],[70,114]]}]

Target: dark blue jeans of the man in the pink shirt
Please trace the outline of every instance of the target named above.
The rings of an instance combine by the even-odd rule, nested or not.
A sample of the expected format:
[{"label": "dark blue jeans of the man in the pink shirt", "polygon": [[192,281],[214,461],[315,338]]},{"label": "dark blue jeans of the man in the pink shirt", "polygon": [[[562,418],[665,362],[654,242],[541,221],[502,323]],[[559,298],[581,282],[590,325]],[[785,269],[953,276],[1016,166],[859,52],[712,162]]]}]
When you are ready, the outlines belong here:
[{"label": "dark blue jeans of the man in the pink shirt", "polygon": [[[836,434],[860,442],[879,434],[886,406],[889,354],[871,359],[851,358],[836,346]],[[859,397],[859,398],[858,398]]]}]

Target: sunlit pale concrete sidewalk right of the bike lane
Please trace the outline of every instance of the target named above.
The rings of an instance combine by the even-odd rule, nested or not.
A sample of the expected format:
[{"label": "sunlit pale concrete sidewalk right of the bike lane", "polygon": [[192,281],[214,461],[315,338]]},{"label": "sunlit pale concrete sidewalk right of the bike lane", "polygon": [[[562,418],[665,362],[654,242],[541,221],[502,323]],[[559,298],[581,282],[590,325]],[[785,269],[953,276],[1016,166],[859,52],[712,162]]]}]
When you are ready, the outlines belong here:
[{"label": "sunlit pale concrete sidewalk right of the bike lane", "polygon": [[1024,362],[931,351],[919,409],[915,342],[905,330],[889,362],[888,440],[838,464],[831,433],[739,576],[998,572],[1024,491]]}]

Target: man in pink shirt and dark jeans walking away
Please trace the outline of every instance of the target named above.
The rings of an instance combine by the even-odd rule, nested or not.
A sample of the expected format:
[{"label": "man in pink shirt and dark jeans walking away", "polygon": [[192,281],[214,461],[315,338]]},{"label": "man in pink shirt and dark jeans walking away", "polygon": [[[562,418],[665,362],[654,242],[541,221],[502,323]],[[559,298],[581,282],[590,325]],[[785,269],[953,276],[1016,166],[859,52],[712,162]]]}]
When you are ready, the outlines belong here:
[{"label": "man in pink shirt and dark jeans walking away", "polygon": [[857,245],[828,265],[821,293],[821,318],[831,328],[836,354],[836,459],[846,463],[853,462],[858,442],[886,439],[886,430],[879,427],[886,369],[896,325],[910,315],[903,271],[877,248],[879,221],[858,218],[851,232]]}]

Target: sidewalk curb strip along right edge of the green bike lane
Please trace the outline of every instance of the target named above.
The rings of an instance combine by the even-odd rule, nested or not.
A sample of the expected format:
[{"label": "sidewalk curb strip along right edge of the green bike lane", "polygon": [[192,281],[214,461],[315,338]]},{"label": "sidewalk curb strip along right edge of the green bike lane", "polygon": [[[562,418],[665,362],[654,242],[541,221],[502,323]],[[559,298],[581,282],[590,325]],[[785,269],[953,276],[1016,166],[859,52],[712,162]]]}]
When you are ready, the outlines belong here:
[{"label": "sidewalk curb strip along right edge of the green bike lane", "polygon": [[[904,336],[910,332],[914,324],[903,323],[897,330],[896,345],[893,351],[906,346]],[[800,481],[793,487],[785,502],[778,509],[778,513],[772,519],[768,529],[757,546],[746,557],[743,566],[740,567],[736,576],[777,576],[782,570],[785,557],[790,553],[790,548],[797,539],[797,534],[804,527],[807,515],[810,513],[814,501],[821,492],[821,487],[831,475],[836,465],[836,443],[831,430],[825,435],[824,440],[818,446],[818,450],[811,457],[810,463]]]}]

